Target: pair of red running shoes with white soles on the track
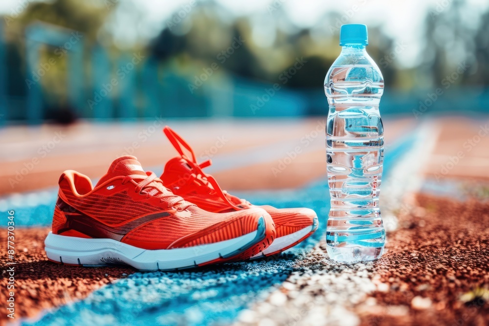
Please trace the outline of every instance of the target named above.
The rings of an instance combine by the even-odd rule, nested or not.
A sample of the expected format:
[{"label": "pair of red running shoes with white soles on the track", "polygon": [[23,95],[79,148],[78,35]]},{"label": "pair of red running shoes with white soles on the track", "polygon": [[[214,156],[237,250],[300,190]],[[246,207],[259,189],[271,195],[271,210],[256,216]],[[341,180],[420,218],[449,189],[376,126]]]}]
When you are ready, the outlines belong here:
[{"label": "pair of red running shoes with white soles on the track", "polygon": [[275,255],[317,229],[311,209],[255,206],[222,191],[202,171],[210,161],[198,164],[175,131],[163,131],[180,155],[159,178],[129,155],[113,161],[95,188],[76,171],[61,175],[44,241],[49,260],[174,270]]}]

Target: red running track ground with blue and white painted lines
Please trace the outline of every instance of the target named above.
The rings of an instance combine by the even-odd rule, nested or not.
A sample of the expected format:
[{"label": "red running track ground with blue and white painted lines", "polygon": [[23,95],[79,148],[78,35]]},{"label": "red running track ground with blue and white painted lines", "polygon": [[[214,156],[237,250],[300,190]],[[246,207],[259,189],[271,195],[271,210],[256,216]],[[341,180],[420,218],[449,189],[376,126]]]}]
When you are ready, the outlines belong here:
[{"label": "red running track ground with blue and white painted lines", "polygon": [[[487,119],[471,121],[446,118],[433,122],[439,127],[437,146],[432,152],[418,153],[428,158],[428,164],[421,172],[425,180],[431,180],[426,182],[427,189],[431,192],[435,189],[434,192],[439,193],[437,189],[444,188],[440,184],[451,185],[451,180],[457,183],[460,178],[488,179],[487,168],[484,169],[481,162],[488,160],[489,137],[480,137],[470,151],[465,146],[467,139],[473,138],[478,128],[484,127],[484,121]],[[128,268],[79,268],[46,261],[43,241],[49,232],[55,186],[61,172],[74,169],[97,178],[105,173],[112,159],[130,153],[137,156],[145,168],[160,173],[163,163],[175,155],[161,133],[165,123],[193,145],[200,159],[213,159],[214,164],[208,170],[217,177],[223,189],[236,189],[240,196],[257,204],[313,208],[320,217],[319,230],[300,246],[267,261],[223,264],[178,273],[139,273]],[[278,324],[294,322],[299,325],[323,325],[328,322],[328,325],[335,325],[334,318],[339,314],[346,316],[342,325],[367,325],[372,324],[372,321],[376,325],[400,324],[401,321],[410,325],[426,322],[429,320],[426,316],[430,314],[441,315],[448,307],[451,308],[451,314],[445,314],[445,317],[448,316],[445,319],[447,324],[457,318],[457,314],[462,317],[465,307],[469,309],[471,306],[458,298],[468,296],[471,289],[483,289],[489,284],[487,271],[484,273],[484,266],[477,259],[481,255],[488,257],[487,234],[474,234],[472,240],[475,241],[474,245],[477,244],[475,251],[459,251],[457,261],[462,262],[463,269],[470,277],[454,269],[453,258],[443,257],[444,244],[440,242],[432,244],[434,249],[441,251],[436,257],[430,255],[429,250],[411,256],[416,259],[422,257],[424,261],[430,261],[429,264],[413,262],[409,258],[406,261],[402,255],[410,246],[414,245],[416,249],[413,239],[416,236],[420,239],[423,237],[417,226],[426,224],[428,214],[435,220],[435,225],[431,226],[433,232],[437,232],[437,226],[446,224],[438,223],[437,218],[457,218],[457,212],[467,211],[463,204],[413,194],[408,198],[410,209],[400,212],[400,228],[390,234],[393,240],[388,242],[388,251],[380,261],[366,267],[347,266],[345,270],[345,266],[328,260],[322,244],[329,209],[324,164],[324,124],[325,118],[273,122],[155,120],[119,125],[79,124],[67,129],[44,126],[2,130],[4,137],[0,143],[0,152],[3,155],[9,154],[8,157],[2,157],[0,164],[0,191],[3,194],[0,207],[3,212],[11,209],[16,211],[18,264],[15,321],[36,325],[254,325],[268,318]],[[408,151],[417,122],[409,119],[386,120],[384,125],[387,153],[384,175],[388,179],[396,159],[402,152]],[[457,136],[453,136],[454,133]],[[59,138],[61,141],[57,143]],[[453,153],[457,155],[456,150],[464,151],[463,159],[453,167],[446,167]],[[33,168],[28,169],[25,176],[18,176],[17,172],[22,175],[25,172],[22,169],[30,167],[29,162],[33,162],[34,157],[38,160]],[[447,173],[443,170],[444,166],[447,168],[445,170],[450,168]],[[441,181],[437,177],[440,174]],[[9,179],[19,182],[13,182],[12,186]],[[12,195],[13,192],[18,194]],[[451,194],[452,197],[454,195],[457,193]],[[437,203],[436,207],[449,208],[444,217],[437,214],[441,209],[432,212],[433,202]],[[477,202],[469,209],[476,209],[480,217],[479,225],[474,220],[474,225],[467,226],[467,232],[473,233],[473,228],[481,228],[488,222],[488,207]],[[471,220],[470,217],[467,219]],[[450,230],[450,225],[444,226],[445,231],[456,232]],[[0,238],[0,247],[4,251],[5,235],[2,234]],[[462,243],[462,247],[471,245],[460,240],[458,244]],[[410,250],[413,251],[412,248]],[[469,259],[469,256],[476,259]],[[2,257],[2,266],[5,262],[5,257]],[[416,263],[421,274],[423,268],[430,267],[430,264],[439,269],[438,275],[441,278],[432,277],[433,282],[430,284],[439,285],[441,289],[446,287],[443,280],[454,278],[463,281],[454,281],[455,286],[447,287],[451,288],[450,291],[440,290],[443,295],[436,297],[436,293],[430,292],[433,285],[423,285],[422,275],[413,271],[412,266]],[[437,266],[437,263],[441,266]],[[396,266],[398,274],[391,276],[393,271],[390,266]],[[302,293],[309,291],[307,286],[310,283],[317,285],[310,291],[314,297],[320,298],[323,295],[327,298],[324,292],[328,287],[324,279],[348,276],[350,269],[354,273],[365,271],[365,284],[374,284],[367,291],[367,296],[356,299],[356,302],[350,296],[342,305],[328,300],[314,302],[307,309],[299,310],[303,313],[292,314],[297,306],[300,307],[300,303],[295,303],[297,297],[302,298]],[[299,286],[304,275],[310,274],[316,276],[311,276],[306,286]],[[372,280],[375,282],[372,283]],[[0,281],[2,288],[5,288],[6,281],[6,278]],[[294,291],[294,287],[297,291]],[[328,289],[341,296],[341,293],[335,293],[341,292],[341,289]],[[285,301],[277,298],[285,298]],[[5,292],[2,291],[0,302],[5,302],[4,299]],[[487,320],[487,306],[477,300],[474,302],[479,304],[476,313],[472,313],[470,319],[464,322]],[[313,318],[314,314],[319,318]],[[5,322],[5,314],[0,315],[0,320]]]}]

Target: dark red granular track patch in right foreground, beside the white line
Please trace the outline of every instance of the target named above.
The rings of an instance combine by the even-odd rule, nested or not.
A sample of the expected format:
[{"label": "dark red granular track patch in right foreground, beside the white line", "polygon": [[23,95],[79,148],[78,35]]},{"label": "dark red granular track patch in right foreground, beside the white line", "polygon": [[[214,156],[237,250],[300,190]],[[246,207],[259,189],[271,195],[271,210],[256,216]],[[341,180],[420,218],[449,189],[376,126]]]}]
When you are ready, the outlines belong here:
[{"label": "dark red granular track patch in right foreground, beside the white line", "polygon": [[489,325],[489,202],[416,202],[376,266],[388,286],[357,313],[365,325]]}]

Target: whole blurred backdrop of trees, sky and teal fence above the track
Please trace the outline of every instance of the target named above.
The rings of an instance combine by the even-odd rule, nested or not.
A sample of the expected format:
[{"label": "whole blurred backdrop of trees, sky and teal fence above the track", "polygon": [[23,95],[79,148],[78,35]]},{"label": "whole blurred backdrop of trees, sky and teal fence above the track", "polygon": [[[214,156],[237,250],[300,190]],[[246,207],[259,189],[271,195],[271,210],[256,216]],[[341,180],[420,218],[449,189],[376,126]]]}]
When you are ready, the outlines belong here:
[{"label": "whole blurred backdrop of trees, sky and teal fence above the track", "polygon": [[485,1],[238,2],[3,1],[0,123],[325,115],[353,22],[369,26],[382,114],[489,112]]}]

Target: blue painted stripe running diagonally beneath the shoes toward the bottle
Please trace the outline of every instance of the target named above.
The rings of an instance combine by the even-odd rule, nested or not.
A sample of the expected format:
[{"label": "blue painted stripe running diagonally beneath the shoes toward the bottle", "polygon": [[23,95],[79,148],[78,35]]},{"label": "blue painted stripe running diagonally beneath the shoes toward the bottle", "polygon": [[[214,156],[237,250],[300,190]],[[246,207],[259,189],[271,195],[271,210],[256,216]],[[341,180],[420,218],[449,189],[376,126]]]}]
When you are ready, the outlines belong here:
[{"label": "blue painted stripe running diagonally beneath the shoes toward the bottle", "polygon": [[[404,138],[384,160],[384,173],[413,144]],[[24,325],[221,325],[232,323],[239,312],[262,300],[297,269],[320,239],[325,237],[330,203],[326,176],[304,189],[255,191],[237,194],[255,204],[309,207],[319,217],[319,229],[308,240],[272,261],[228,263],[181,272],[136,272],[103,286],[86,299],[59,307]],[[387,196],[387,194],[384,194]],[[54,201],[54,199],[53,199]],[[41,212],[39,209],[37,212]],[[27,214],[27,213],[25,213]],[[48,216],[36,220],[50,222]],[[39,225],[39,224],[38,224]],[[60,266],[60,268],[63,268]]]}]

